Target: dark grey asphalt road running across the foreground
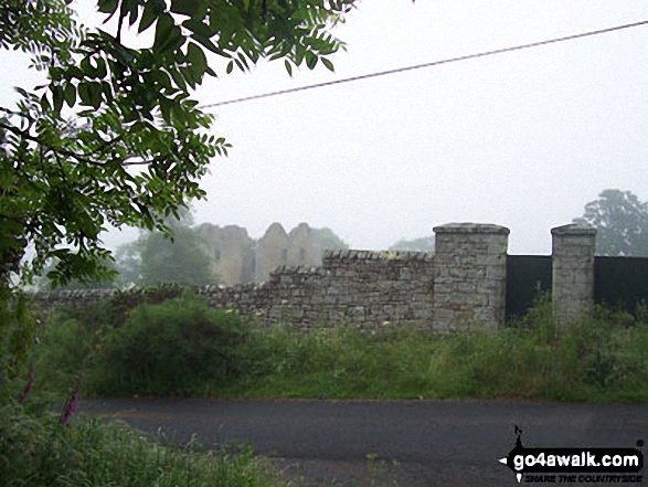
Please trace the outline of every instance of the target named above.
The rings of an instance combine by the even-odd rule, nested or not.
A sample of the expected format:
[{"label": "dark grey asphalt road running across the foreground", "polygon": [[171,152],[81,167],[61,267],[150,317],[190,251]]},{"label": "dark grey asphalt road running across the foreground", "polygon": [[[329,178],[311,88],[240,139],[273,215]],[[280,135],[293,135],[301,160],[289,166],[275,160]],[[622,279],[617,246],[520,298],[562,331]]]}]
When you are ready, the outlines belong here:
[{"label": "dark grey asphalt road running across the foreground", "polygon": [[180,442],[195,434],[206,447],[249,441],[298,485],[519,485],[498,463],[514,446],[514,425],[525,447],[648,441],[648,404],[138,399],[82,401],[78,409]]}]

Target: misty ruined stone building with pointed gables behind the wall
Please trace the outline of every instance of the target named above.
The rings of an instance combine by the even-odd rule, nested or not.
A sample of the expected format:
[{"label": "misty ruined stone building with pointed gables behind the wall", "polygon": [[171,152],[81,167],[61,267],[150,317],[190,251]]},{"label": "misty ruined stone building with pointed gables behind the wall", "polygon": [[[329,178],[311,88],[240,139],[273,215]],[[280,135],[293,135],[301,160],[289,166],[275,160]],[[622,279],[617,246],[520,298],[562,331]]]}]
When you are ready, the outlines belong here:
[{"label": "misty ruined stone building with pointed gables behind the wall", "polygon": [[281,265],[321,265],[325,251],[307,223],[300,223],[289,233],[281,224],[273,223],[258,241],[236,225],[204,223],[199,231],[204,237],[213,275],[227,286],[265,282]]}]

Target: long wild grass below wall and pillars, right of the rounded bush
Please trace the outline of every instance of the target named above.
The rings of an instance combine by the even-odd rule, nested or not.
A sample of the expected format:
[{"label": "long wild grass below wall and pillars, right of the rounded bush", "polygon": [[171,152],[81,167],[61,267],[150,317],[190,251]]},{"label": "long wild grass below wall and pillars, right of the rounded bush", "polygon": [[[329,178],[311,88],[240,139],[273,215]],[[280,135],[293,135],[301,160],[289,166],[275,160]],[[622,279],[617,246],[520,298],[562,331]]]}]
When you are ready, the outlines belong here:
[{"label": "long wild grass below wall and pillars, right of the rounded bush", "polygon": [[596,316],[560,332],[529,320],[495,332],[368,335],[347,327],[256,335],[229,396],[648,400],[648,326]]}]

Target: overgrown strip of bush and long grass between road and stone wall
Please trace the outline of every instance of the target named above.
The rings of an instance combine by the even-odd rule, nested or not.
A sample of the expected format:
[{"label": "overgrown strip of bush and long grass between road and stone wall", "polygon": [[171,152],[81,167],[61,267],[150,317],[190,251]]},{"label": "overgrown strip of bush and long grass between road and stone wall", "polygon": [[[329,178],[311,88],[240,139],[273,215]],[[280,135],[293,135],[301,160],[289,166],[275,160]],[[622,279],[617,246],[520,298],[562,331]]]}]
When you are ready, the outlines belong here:
[{"label": "overgrown strip of bush and long grass between road and stone wall", "polygon": [[254,330],[184,294],[99,322],[76,310],[43,326],[38,387],[70,387],[83,369],[86,395],[648,400],[646,307],[597,308],[560,330],[541,300],[495,332],[297,334]]}]

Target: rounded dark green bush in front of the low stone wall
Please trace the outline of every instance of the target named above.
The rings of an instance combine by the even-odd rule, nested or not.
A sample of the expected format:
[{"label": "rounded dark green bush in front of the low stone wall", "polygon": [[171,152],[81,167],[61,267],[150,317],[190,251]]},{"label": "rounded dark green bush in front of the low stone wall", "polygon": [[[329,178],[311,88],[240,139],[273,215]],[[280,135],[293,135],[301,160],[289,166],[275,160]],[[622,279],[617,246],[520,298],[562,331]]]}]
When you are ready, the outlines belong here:
[{"label": "rounded dark green bush in front of the low stone wall", "polygon": [[208,394],[241,373],[241,317],[191,292],[136,307],[97,346],[89,378],[97,394]]}]

